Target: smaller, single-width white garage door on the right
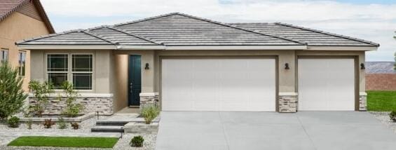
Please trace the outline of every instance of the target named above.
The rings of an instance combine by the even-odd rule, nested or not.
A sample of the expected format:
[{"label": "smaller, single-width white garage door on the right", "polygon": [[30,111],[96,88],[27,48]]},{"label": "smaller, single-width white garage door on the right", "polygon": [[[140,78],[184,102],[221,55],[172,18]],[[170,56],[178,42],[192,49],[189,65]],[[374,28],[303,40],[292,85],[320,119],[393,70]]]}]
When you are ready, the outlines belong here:
[{"label": "smaller, single-width white garage door on the right", "polygon": [[299,59],[299,110],[355,110],[353,59]]}]

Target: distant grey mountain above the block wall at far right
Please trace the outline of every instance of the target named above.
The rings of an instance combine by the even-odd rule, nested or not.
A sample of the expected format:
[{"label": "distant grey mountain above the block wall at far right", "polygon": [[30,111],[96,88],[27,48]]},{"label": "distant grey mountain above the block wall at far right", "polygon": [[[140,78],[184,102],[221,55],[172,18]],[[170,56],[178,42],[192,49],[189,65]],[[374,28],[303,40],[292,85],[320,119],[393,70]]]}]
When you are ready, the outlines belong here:
[{"label": "distant grey mountain above the block wall at far right", "polygon": [[395,62],[366,62],[367,74],[396,74]]}]

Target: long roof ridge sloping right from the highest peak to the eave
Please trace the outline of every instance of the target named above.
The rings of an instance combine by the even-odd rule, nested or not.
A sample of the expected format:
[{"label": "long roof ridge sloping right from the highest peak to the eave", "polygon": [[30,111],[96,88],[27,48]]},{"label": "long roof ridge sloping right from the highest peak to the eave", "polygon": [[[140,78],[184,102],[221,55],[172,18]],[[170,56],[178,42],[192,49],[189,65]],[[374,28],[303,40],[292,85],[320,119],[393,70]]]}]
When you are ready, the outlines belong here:
[{"label": "long roof ridge sloping right from the highest peak to the eave", "polygon": [[287,40],[287,41],[292,41],[294,43],[301,43],[303,45],[307,45],[307,43],[303,42],[303,41],[298,41],[298,40],[294,40],[294,39],[288,39],[288,38],[281,37],[281,36],[274,36],[274,35],[271,35],[271,34],[264,34],[264,33],[257,32],[257,31],[254,31],[254,30],[245,29],[245,28],[241,28],[241,27],[236,27],[234,25],[228,25],[228,24],[223,23],[223,22],[209,20],[209,19],[206,19],[206,18],[199,18],[199,17],[193,16],[193,15],[187,15],[187,14],[184,14],[184,13],[175,13],[175,14],[172,14],[172,15],[183,15],[185,17],[194,18],[194,19],[197,19],[197,20],[203,20],[203,21],[211,22],[211,23],[214,23],[214,24],[217,24],[217,25],[223,25],[223,26],[226,26],[226,27],[232,27],[234,29],[244,30],[246,32],[252,32],[252,33],[255,33],[255,34],[261,34],[261,35],[264,35],[264,36],[271,36],[271,37],[276,38],[276,39],[284,39],[284,40]]}]

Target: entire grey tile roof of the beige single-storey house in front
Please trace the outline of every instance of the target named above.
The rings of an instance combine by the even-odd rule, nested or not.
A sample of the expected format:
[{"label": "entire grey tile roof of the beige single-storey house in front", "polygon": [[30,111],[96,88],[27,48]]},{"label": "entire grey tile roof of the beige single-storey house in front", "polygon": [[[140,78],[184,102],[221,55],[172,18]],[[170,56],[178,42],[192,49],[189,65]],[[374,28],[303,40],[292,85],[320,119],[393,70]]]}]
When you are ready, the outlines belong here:
[{"label": "entire grey tile roof of the beige single-storey house in front", "polygon": [[[81,38],[89,37],[88,39]],[[76,39],[74,39],[76,37]],[[378,46],[376,43],[281,23],[225,24],[168,13],[112,26],[63,32],[18,45],[125,46]]]}]

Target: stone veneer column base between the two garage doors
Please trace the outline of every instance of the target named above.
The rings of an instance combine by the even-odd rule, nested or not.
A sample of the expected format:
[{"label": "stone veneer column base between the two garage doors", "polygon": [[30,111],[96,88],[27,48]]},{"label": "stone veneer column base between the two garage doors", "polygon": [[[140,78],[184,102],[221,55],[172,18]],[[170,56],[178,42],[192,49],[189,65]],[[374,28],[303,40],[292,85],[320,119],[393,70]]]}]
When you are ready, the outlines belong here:
[{"label": "stone veneer column base between the two garage doors", "polygon": [[297,111],[297,93],[279,93],[279,112],[296,112]]}]

